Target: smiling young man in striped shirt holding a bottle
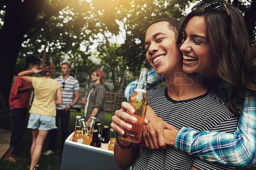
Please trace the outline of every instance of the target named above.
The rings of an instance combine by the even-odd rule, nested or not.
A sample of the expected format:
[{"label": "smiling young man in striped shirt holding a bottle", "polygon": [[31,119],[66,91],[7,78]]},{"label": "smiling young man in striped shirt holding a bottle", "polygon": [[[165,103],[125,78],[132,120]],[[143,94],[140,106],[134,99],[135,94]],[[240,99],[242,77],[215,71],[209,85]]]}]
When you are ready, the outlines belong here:
[{"label": "smiling young man in striped shirt holding a bottle", "polygon": [[[155,20],[147,27],[147,61],[166,80],[163,88],[147,90],[148,105],[159,118],[177,130],[192,127],[201,131],[235,131],[237,118],[234,118],[214,92],[203,86],[200,82],[202,79],[197,79],[194,73],[182,70],[183,58],[175,42],[177,27],[179,21],[173,19]],[[120,134],[124,134],[121,127],[125,127],[126,123],[131,124],[126,112],[127,108],[131,108],[128,105],[124,102],[122,109],[116,111],[112,118],[111,127]],[[230,124],[230,120],[235,123]],[[164,137],[168,141],[168,135]],[[120,138],[115,145],[115,160],[120,169],[131,166],[135,160],[133,169],[234,169],[232,166],[201,160],[171,146],[152,150],[143,147],[143,144],[139,147],[138,144],[131,144]]]}]

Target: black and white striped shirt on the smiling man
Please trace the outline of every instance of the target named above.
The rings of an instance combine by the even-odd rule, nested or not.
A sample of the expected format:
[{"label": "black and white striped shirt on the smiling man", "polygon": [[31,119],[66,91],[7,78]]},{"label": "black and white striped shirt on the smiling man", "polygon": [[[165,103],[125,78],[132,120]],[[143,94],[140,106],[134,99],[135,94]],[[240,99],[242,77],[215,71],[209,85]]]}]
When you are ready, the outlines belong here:
[{"label": "black and white striped shirt on the smiling man", "polygon": [[[191,127],[198,131],[236,131],[238,118],[212,91],[189,100],[175,101],[168,96],[164,86],[147,90],[147,98],[157,116],[177,130]],[[207,162],[170,146],[158,150],[141,147],[133,169],[190,169],[191,166],[198,169],[235,169],[234,166]]]}]

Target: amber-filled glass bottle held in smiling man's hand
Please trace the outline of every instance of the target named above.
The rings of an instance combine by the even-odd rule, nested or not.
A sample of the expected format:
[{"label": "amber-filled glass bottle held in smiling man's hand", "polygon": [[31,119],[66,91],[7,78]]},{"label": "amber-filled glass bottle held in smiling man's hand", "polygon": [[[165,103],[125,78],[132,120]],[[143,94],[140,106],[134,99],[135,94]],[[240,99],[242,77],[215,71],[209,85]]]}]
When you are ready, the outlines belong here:
[{"label": "amber-filled glass bottle held in smiling man's hand", "polygon": [[147,75],[148,69],[141,68],[140,77],[137,82],[136,89],[134,93],[132,93],[129,98],[129,104],[132,105],[135,112],[130,113],[132,116],[137,118],[136,123],[132,123],[131,130],[125,130],[125,134],[121,136],[121,139],[133,143],[140,143],[141,134],[145,120],[145,114],[147,111],[148,99],[146,96],[146,88],[147,88]]}]

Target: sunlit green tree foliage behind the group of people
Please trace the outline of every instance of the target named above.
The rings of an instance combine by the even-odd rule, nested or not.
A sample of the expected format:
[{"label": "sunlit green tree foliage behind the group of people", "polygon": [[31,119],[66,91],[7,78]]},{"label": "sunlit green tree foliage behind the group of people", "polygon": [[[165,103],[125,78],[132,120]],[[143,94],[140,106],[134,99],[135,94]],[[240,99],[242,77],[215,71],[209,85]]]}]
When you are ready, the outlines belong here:
[{"label": "sunlit green tree foliage behind the group of people", "polygon": [[[56,65],[56,70],[68,59],[75,77],[83,77],[81,83],[88,82],[84,73],[90,77],[93,70],[100,68],[113,80],[113,91],[122,91],[123,85],[132,79],[127,76],[138,75],[141,67],[150,68],[143,45],[148,23],[162,17],[182,20],[184,9],[194,2],[47,0],[36,20],[29,23],[15,72],[24,70],[26,56],[33,54],[43,61],[46,54],[45,58]],[[0,6],[6,3],[0,0]],[[250,10],[250,3],[238,0],[233,3],[244,15]],[[4,16],[5,13],[0,13],[2,20]],[[100,58],[100,65],[88,59],[94,55]]]}]

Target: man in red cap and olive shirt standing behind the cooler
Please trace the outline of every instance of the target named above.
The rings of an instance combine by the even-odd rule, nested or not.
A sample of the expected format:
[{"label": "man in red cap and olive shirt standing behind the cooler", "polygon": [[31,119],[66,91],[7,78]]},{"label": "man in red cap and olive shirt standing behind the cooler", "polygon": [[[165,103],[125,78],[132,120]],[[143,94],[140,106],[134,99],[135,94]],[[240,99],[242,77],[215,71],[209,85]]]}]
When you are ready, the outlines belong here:
[{"label": "man in red cap and olive shirt standing behind the cooler", "polygon": [[[92,77],[93,87],[88,94],[87,99],[82,98],[81,104],[84,107],[84,118],[86,126],[89,127],[92,117],[96,117],[96,122],[104,123],[106,89],[104,88],[104,75],[102,70],[95,70]],[[96,123],[95,123],[96,125]]]}]

